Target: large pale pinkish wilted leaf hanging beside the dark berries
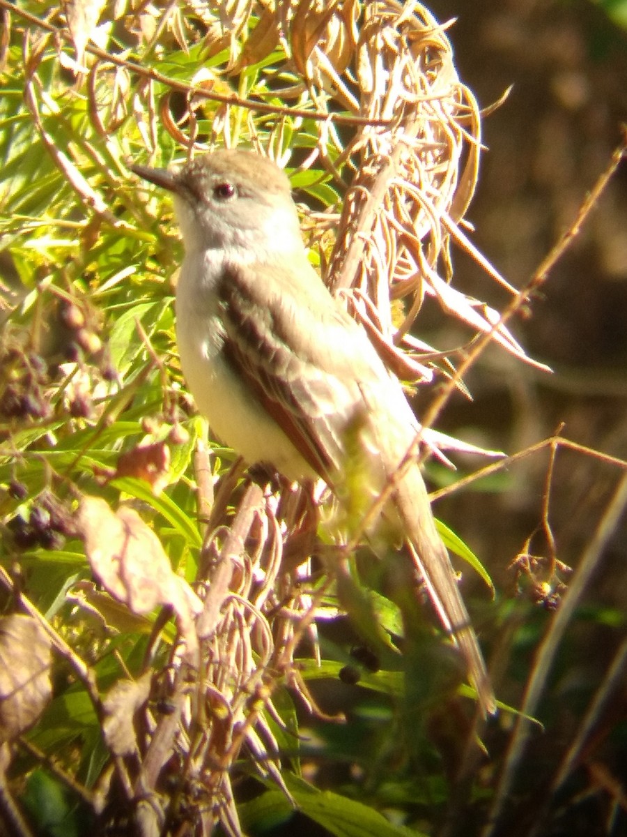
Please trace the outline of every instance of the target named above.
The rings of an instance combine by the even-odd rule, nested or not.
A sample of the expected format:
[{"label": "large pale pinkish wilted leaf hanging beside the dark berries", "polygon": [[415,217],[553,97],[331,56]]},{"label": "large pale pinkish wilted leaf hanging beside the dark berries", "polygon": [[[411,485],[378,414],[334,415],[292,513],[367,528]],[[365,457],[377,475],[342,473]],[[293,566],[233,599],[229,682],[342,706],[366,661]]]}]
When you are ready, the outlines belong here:
[{"label": "large pale pinkish wilted leaf hanging beside the dark berries", "polygon": [[202,610],[201,600],[184,578],[172,572],[159,538],[137,512],[128,506],[114,512],[100,497],[84,497],[78,525],[91,568],[103,587],[134,614],[170,605],[188,650],[195,650],[193,619]]}]

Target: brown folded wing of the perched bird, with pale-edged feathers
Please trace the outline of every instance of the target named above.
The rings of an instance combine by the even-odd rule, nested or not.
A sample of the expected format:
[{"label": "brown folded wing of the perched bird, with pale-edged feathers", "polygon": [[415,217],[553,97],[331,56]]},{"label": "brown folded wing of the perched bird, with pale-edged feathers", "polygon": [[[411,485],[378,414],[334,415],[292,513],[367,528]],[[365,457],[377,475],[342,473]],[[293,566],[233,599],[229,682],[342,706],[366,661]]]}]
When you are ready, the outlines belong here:
[{"label": "brown folded wing of the perched bird, with pale-edged feathers", "polygon": [[329,481],[341,462],[344,431],[365,408],[358,382],[376,377],[372,364],[380,361],[306,259],[298,267],[296,286],[293,270],[274,265],[225,270],[218,289],[224,357],[303,459]]}]

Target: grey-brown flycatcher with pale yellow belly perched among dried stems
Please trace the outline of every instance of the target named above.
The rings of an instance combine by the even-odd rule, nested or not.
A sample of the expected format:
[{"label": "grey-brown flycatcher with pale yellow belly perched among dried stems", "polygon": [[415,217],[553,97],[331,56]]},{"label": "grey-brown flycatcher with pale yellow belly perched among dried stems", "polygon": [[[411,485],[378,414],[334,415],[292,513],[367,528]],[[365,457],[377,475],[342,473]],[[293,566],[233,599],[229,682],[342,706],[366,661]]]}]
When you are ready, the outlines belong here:
[{"label": "grey-brown flycatcher with pale yellow belly perched among dried stems", "polygon": [[[251,151],[216,151],[176,172],[133,167],[174,193],[185,259],[176,339],[196,404],[249,463],[332,487],[358,428],[368,490],[396,480],[385,511],[466,662],[483,711],[495,710],[477,637],[431,514],[420,468],[400,461],[419,425],[398,380],[307,259],[288,177]],[[395,512],[393,507],[395,506]]]}]

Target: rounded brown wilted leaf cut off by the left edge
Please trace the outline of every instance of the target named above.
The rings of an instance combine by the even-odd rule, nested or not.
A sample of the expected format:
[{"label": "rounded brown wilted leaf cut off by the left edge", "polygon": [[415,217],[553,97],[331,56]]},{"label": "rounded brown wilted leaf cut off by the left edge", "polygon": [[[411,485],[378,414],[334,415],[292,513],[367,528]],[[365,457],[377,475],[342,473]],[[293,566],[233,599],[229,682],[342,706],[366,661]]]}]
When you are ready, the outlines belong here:
[{"label": "rounded brown wilted leaf cut off by the left edge", "polygon": [[0,742],[31,727],[50,699],[50,639],[32,616],[0,619]]}]

